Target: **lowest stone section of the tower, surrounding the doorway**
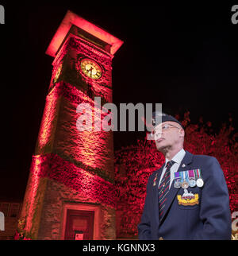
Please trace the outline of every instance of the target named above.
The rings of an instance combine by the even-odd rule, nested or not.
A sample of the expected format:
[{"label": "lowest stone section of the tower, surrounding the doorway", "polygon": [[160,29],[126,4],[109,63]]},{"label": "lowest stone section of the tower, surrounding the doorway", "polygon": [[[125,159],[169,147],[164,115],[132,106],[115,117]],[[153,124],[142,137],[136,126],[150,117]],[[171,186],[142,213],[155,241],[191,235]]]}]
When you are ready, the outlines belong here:
[{"label": "lowest stone section of the tower, surrounding the doorway", "polygon": [[[41,215],[38,239],[57,240],[63,239],[63,204],[71,202],[74,204],[96,204],[101,211],[100,237],[98,239],[116,239],[115,209],[102,202],[96,202],[89,196],[84,196],[74,189],[69,189],[62,183],[48,180],[48,186],[44,198],[44,211]],[[69,200],[70,199],[70,200]]]}]

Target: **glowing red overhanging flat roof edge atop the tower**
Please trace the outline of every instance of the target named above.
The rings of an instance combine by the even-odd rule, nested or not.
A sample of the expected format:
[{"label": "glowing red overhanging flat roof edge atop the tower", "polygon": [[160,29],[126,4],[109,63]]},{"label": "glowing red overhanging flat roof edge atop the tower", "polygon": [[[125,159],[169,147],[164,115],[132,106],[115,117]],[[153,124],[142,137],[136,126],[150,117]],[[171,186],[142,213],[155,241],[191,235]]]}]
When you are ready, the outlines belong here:
[{"label": "glowing red overhanging flat roof edge atop the tower", "polygon": [[99,28],[97,25],[86,21],[83,17],[79,17],[77,14],[74,14],[70,10],[68,10],[67,14],[63,18],[63,21],[59,25],[55,36],[52,38],[46,54],[53,57],[56,56],[56,52],[58,51],[59,46],[62,44],[63,39],[66,37],[69,29],[71,28],[71,25],[76,25],[77,27],[85,30],[87,33],[90,33],[94,37],[98,37],[102,41],[105,41],[107,44],[111,45],[110,53],[113,55],[123,44],[123,41],[121,41],[117,37],[113,37],[113,35]]}]

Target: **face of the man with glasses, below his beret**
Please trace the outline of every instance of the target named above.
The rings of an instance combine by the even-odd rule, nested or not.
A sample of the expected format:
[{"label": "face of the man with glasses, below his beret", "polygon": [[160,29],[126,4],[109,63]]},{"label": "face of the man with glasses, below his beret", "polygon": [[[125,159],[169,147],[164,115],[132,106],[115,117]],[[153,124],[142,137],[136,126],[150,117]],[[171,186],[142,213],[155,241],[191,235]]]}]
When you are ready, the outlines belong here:
[{"label": "face of the man with glasses, below his beret", "polygon": [[184,130],[177,122],[163,122],[155,126],[154,130],[155,145],[159,151],[167,147],[181,145],[184,137]]}]

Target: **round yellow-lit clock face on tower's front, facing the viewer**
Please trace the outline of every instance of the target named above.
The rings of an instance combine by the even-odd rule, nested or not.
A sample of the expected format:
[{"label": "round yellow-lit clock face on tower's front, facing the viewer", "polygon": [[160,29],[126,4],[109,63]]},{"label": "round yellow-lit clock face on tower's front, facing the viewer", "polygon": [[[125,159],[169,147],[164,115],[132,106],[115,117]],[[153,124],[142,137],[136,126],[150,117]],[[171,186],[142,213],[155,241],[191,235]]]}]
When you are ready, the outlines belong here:
[{"label": "round yellow-lit clock face on tower's front, facing the viewer", "polygon": [[86,76],[94,80],[102,76],[102,69],[94,60],[83,59],[81,60],[80,67]]}]

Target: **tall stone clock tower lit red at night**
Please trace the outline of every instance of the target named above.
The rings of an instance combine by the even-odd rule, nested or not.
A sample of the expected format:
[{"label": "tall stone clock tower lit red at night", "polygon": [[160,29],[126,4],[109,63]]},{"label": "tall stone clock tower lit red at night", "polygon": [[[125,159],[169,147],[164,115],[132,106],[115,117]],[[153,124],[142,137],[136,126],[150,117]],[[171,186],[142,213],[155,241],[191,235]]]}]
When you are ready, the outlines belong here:
[{"label": "tall stone clock tower lit red at night", "polygon": [[[18,231],[30,239],[116,239],[113,133],[80,131],[112,102],[112,60],[122,41],[67,11],[46,53],[52,79]],[[83,113],[79,104],[87,106]],[[101,120],[100,120],[101,121]]]}]

